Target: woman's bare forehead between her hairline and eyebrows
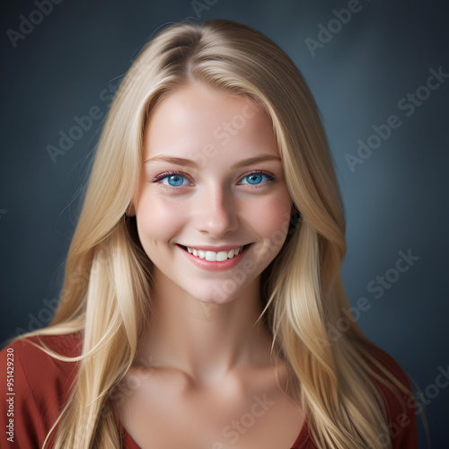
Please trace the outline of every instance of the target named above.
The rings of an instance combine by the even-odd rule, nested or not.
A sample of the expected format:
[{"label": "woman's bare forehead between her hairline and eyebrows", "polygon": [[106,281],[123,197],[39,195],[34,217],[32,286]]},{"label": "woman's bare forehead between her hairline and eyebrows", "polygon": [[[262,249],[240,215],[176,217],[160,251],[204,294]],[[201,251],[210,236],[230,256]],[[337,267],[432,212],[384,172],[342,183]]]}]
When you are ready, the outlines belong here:
[{"label": "woman's bare forehead between her hairline and eyebrows", "polygon": [[145,159],[205,152],[278,155],[269,115],[247,96],[198,84],[169,92],[146,120]]}]

